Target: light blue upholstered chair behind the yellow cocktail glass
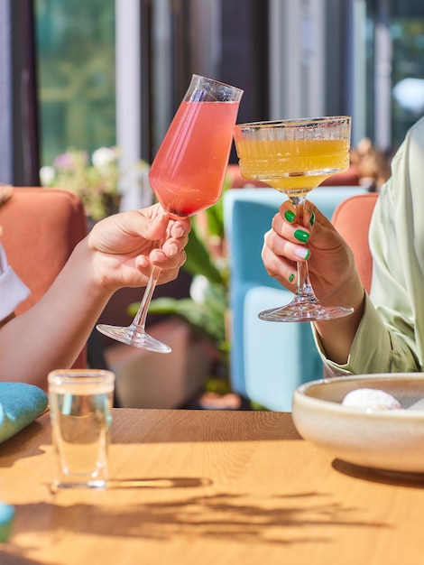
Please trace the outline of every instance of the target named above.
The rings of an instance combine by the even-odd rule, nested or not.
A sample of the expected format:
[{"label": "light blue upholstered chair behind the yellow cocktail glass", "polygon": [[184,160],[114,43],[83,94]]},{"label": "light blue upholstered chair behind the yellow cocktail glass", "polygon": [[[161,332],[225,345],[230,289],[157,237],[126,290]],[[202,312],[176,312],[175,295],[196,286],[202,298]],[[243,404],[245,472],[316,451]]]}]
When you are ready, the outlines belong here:
[{"label": "light blue upholstered chair behind the yellow cocktail glass", "polygon": [[[319,187],[310,199],[331,218],[336,206],[361,187]],[[294,390],[321,378],[323,366],[309,323],[259,320],[261,310],[282,306],[292,294],[263,267],[263,235],[284,195],[274,189],[232,189],[224,197],[230,261],[231,384],[235,393],[273,411],[291,411]]]}]

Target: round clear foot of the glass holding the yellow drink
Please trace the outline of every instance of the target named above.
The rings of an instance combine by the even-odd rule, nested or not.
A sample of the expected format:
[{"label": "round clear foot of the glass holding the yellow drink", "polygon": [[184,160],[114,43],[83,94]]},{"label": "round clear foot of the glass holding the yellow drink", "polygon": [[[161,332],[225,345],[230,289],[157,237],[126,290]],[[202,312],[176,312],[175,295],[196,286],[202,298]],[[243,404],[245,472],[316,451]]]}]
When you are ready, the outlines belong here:
[{"label": "round clear foot of the glass holding the yellow drink", "polygon": [[336,320],[349,316],[353,311],[353,308],[343,306],[326,306],[315,297],[310,300],[296,297],[287,306],[263,310],[258,316],[265,321],[318,321]]}]

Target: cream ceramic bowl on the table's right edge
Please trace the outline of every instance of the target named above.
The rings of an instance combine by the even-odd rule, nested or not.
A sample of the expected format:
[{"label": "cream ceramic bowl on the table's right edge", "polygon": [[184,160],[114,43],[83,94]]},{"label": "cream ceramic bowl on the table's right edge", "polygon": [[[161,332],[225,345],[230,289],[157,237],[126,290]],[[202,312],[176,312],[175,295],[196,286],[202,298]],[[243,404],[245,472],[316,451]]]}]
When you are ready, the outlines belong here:
[{"label": "cream ceramic bowl on the table's right edge", "polygon": [[[373,388],[392,394],[401,410],[347,407],[346,394]],[[293,421],[302,438],[335,458],[367,468],[424,473],[424,373],[343,376],[302,384]]]}]

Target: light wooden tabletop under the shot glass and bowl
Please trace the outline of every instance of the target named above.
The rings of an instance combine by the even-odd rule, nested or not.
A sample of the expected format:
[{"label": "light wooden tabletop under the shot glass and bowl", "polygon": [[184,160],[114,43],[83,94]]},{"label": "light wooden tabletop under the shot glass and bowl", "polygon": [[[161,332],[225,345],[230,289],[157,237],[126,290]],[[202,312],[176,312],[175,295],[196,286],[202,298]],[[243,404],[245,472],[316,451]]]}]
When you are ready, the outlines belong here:
[{"label": "light wooden tabletop under the shot glass and bowl", "polygon": [[1,565],[424,563],[424,482],[333,460],[290,413],[115,409],[111,433],[104,491],[51,492],[48,414],[0,445]]}]

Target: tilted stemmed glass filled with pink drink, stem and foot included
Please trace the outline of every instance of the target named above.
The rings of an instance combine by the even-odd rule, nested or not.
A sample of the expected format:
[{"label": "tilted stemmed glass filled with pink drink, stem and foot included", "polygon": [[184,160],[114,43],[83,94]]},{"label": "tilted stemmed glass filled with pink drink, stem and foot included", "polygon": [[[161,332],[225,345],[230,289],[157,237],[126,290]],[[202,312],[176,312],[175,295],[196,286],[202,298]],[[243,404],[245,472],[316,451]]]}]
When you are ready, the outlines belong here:
[{"label": "tilted stemmed glass filled with pink drink, stem and foot included", "polygon": [[[221,197],[242,95],[240,88],[192,76],[149,172],[152,190],[171,218],[188,218]],[[145,330],[160,273],[159,267],[152,267],[143,300],[130,326],[99,324],[97,329],[134,347],[170,353],[171,347]]]}]

